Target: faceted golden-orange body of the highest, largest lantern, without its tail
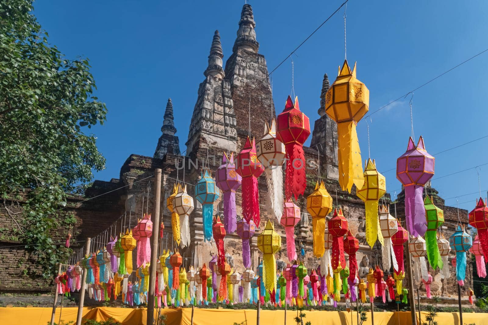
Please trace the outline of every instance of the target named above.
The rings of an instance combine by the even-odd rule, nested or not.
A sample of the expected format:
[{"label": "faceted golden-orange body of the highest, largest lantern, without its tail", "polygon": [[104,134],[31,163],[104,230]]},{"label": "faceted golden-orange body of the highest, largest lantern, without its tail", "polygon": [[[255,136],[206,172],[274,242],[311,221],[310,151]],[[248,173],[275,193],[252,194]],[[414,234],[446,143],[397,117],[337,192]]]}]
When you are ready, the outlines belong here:
[{"label": "faceted golden-orange body of the highest, largest lantern, without its tail", "polygon": [[337,79],[325,94],[325,113],[337,123],[357,123],[366,115],[368,106],[369,90],[356,78],[356,63],[351,71],[347,60],[344,60]]}]

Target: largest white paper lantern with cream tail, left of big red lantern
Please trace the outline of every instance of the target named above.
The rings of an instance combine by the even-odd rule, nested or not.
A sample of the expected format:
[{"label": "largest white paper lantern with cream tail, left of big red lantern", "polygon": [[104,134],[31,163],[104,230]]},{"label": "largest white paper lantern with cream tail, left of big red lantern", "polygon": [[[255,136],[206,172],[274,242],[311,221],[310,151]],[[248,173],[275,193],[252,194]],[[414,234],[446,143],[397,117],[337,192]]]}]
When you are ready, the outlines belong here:
[{"label": "largest white paper lantern with cream tail, left of big red lantern", "polygon": [[256,153],[259,161],[264,166],[264,176],[266,176],[266,185],[268,196],[265,206],[268,211],[280,221],[283,213],[283,172],[281,166],[285,162],[285,145],[276,138],[275,120],[269,127],[264,122],[264,135],[256,142]]}]

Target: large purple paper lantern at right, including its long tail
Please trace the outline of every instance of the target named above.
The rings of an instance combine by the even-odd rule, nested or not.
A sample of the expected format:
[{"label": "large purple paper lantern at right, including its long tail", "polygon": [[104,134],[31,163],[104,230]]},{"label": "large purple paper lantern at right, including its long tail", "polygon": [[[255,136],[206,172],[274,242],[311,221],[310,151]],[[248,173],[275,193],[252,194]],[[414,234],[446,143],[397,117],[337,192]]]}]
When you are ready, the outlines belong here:
[{"label": "large purple paper lantern at right, including its long tail", "polygon": [[427,220],[422,193],[434,175],[434,157],[427,153],[422,136],[417,146],[408,139],[407,151],[397,159],[397,179],[405,187],[405,221],[413,236],[424,236]]}]

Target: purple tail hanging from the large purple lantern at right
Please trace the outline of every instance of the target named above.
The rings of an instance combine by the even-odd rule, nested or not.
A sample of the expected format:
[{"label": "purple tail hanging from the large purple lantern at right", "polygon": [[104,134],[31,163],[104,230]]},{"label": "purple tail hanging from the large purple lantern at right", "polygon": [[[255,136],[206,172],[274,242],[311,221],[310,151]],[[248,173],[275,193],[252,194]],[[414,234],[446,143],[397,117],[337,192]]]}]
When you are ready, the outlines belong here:
[{"label": "purple tail hanging from the large purple lantern at right", "polygon": [[420,185],[405,187],[405,221],[413,237],[424,236],[427,231],[423,192],[424,187]]}]

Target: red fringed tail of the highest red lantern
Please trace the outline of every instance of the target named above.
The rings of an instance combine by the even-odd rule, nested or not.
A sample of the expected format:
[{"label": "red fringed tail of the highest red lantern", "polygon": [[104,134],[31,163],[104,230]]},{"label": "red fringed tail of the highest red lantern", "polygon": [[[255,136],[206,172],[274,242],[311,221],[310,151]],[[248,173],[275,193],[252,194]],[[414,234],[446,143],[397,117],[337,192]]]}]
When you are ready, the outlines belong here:
[{"label": "red fringed tail of the highest red lantern", "polygon": [[306,187],[305,177],[305,153],[303,146],[297,143],[290,143],[285,146],[286,151],[286,178],[285,178],[285,201],[291,196],[298,199],[303,195]]}]

